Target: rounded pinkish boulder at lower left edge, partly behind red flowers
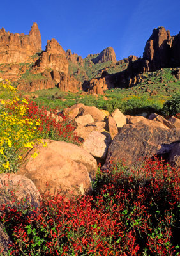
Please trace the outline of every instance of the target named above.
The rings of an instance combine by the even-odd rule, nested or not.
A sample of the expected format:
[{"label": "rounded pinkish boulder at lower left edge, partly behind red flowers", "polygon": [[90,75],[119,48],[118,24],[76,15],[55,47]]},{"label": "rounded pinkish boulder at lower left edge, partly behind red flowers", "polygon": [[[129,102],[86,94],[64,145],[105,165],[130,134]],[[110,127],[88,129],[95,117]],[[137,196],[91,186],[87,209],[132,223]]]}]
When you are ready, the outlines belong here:
[{"label": "rounded pinkish boulder at lower left edge, partly behind red flowers", "polygon": [[[11,196],[11,191],[15,196]],[[10,207],[40,206],[40,193],[31,179],[14,173],[0,175],[0,204]],[[11,198],[11,199],[10,199]],[[19,204],[20,203],[20,204]],[[31,210],[30,210],[31,211]]]}]

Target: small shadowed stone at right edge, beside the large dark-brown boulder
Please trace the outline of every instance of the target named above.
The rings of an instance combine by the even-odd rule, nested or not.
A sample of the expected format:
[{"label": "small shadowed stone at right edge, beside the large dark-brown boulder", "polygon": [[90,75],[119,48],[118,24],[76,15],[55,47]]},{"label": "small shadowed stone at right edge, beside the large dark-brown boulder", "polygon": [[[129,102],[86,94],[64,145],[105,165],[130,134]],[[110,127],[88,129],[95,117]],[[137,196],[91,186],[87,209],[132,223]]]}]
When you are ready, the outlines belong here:
[{"label": "small shadowed stone at right edge, beside the large dark-brown boulder", "polygon": [[180,143],[175,143],[167,159],[174,168],[180,168]]}]

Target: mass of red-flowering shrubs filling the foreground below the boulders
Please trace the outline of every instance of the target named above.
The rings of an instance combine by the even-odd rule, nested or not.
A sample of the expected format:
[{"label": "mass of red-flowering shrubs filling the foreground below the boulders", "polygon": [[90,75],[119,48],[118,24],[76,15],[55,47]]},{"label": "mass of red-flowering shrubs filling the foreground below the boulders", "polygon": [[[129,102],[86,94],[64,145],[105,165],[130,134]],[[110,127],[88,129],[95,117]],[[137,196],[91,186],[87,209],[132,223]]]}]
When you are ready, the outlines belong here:
[{"label": "mass of red-flowering shrubs filling the foreground below the boulders", "polygon": [[179,255],[179,170],[147,161],[100,170],[93,194],[42,195],[40,211],[2,207],[10,255]]}]

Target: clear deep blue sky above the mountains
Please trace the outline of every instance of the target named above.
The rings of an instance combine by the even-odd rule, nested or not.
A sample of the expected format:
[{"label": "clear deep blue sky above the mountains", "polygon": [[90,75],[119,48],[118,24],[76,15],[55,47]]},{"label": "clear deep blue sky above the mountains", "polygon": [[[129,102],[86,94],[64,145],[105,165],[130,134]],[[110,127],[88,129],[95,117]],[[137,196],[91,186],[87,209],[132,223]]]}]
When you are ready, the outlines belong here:
[{"label": "clear deep blue sky above the mountains", "polygon": [[38,23],[42,49],[56,38],[63,49],[85,58],[112,46],[117,60],[142,56],[154,28],[180,31],[180,0],[3,1],[0,28],[28,34]]}]

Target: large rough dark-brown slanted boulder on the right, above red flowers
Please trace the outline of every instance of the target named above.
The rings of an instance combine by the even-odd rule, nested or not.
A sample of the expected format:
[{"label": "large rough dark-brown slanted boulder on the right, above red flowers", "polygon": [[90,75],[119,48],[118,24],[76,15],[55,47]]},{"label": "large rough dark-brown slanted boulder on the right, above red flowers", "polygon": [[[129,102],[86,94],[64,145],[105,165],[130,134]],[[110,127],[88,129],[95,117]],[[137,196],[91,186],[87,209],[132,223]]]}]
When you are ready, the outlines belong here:
[{"label": "large rough dark-brown slanted boulder on the right, above red flowers", "polygon": [[152,120],[142,120],[124,125],[109,147],[103,168],[109,168],[112,161],[124,159],[128,165],[136,164],[139,159],[143,161],[145,157],[170,152],[173,143],[179,141],[180,129],[165,129],[160,124]]}]

